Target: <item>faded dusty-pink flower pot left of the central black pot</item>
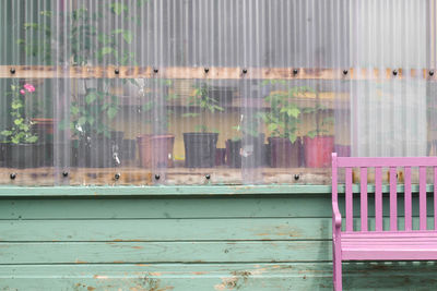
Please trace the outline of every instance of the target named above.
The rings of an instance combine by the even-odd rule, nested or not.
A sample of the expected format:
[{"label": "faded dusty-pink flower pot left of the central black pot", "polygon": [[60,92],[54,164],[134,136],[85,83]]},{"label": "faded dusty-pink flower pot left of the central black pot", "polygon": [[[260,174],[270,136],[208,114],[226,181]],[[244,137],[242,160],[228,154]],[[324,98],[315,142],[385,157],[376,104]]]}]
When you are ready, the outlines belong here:
[{"label": "faded dusty-pink flower pot left of the central black pot", "polygon": [[172,168],[175,136],[143,134],[137,137],[142,168]]}]

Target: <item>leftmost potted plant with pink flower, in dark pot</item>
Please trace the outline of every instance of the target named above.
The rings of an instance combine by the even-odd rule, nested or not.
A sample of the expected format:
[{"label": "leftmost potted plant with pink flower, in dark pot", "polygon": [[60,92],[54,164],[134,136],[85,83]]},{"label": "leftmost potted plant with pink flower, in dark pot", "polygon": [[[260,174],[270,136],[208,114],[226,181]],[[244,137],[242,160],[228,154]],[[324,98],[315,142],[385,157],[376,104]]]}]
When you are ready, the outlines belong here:
[{"label": "leftmost potted plant with pink flower, in dark pot", "polygon": [[12,125],[0,133],[4,137],[2,151],[7,167],[35,168],[43,166],[40,157],[44,155],[44,147],[37,143],[38,136],[32,133],[32,123],[24,112],[24,99],[32,96],[34,92],[35,87],[32,84],[24,86],[13,84],[11,92],[5,94],[12,97],[10,108]]}]

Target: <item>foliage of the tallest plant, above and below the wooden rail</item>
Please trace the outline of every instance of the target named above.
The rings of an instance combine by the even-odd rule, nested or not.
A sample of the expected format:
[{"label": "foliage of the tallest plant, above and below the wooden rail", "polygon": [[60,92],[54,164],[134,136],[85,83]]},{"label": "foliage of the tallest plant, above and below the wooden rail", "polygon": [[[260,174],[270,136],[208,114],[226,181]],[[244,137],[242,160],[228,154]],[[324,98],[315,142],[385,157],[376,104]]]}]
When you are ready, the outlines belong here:
[{"label": "foliage of the tallest plant, above and below the wooden rail", "polygon": [[[147,1],[138,1],[138,7]],[[106,13],[105,13],[106,12]],[[62,13],[57,15],[57,13]],[[87,65],[94,60],[118,65],[137,64],[134,54],[127,49],[122,51],[122,46],[132,45],[134,35],[132,31],[119,28],[107,32],[99,31],[101,24],[108,14],[119,17],[120,22],[135,22],[135,16],[131,14],[129,7],[123,1],[102,1],[99,9],[91,13],[85,7],[79,7],[71,12],[42,11],[38,23],[24,23],[26,32],[24,39],[19,39],[17,44],[24,48],[27,56],[37,57],[46,64],[69,63],[70,65]],[[139,11],[137,11],[138,16]],[[54,33],[51,19],[62,16],[69,23],[69,29],[60,29]],[[134,27],[135,25],[127,25]],[[52,45],[68,54],[52,53]],[[66,47],[66,49],[63,48]],[[54,59],[54,57],[59,59]],[[73,96],[70,105],[70,120],[61,121],[61,128],[68,126],[74,135],[88,136],[93,133],[109,135],[106,125],[108,121],[116,118],[119,106],[117,97],[109,93],[109,80],[99,81],[96,88],[86,88],[86,95]],[[133,80],[122,80],[135,84]],[[102,84],[103,83],[103,84]]]}]

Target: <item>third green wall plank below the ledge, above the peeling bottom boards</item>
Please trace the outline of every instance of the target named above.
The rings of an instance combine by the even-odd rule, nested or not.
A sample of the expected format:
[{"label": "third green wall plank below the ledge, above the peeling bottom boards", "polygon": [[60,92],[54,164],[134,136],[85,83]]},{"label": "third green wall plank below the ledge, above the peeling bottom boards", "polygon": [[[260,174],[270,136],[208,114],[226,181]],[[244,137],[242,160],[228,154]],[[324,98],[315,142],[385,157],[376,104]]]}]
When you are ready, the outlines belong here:
[{"label": "third green wall plank below the ledge, above the peeling bottom boards", "polygon": [[330,259],[330,241],[0,242],[0,265],[74,263],[285,263],[328,262]]}]

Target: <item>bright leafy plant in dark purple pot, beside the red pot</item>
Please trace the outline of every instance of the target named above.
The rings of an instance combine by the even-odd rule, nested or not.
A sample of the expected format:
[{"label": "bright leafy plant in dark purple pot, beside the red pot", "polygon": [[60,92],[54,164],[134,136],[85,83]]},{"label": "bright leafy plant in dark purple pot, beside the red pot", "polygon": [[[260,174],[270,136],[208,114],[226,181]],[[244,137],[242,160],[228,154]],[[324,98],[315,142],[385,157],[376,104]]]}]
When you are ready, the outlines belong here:
[{"label": "bright leafy plant in dark purple pot, beside the red pot", "polygon": [[265,97],[270,111],[262,112],[267,129],[271,132],[269,141],[270,166],[273,168],[294,168],[302,165],[302,140],[297,136],[302,110],[296,98],[312,92],[307,86],[288,88],[284,81],[270,81],[280,85],[279,90],[271,90]]}]

